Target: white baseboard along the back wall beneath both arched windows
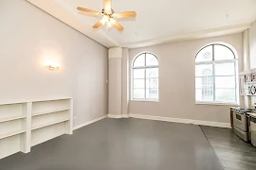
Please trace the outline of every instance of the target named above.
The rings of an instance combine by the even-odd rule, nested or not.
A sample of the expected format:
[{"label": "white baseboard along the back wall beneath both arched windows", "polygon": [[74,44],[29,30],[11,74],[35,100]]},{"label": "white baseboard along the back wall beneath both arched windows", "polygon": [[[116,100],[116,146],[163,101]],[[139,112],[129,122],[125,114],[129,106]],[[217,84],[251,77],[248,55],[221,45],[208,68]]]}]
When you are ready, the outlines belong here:
[{"label": "white baseboard along the back wall beneath both arched windows", "polygon": [[138,119],[148,119],[148,120],[202,125],[202,126],[210,126],[210,127],[229,127],[230,128],[229,123],[209,122],[209,121],[192,120],[192,119],[179,119],[179,118],[141,115],[141,114],[132,114],[132,113],[130,113],[129,115],[130,115],[130,117],[138,118]]}]

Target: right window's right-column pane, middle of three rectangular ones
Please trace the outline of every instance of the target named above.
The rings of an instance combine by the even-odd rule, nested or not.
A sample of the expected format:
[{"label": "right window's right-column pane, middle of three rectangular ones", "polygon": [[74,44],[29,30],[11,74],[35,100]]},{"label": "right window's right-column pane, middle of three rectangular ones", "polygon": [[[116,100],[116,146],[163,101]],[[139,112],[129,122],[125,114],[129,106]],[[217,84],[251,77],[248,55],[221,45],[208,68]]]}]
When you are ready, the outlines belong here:
[{"label": "right window's right-column pane, middle of three rectangular ones", "polygon": [[235,88],[235,77],[215,76],[215,88]]}]

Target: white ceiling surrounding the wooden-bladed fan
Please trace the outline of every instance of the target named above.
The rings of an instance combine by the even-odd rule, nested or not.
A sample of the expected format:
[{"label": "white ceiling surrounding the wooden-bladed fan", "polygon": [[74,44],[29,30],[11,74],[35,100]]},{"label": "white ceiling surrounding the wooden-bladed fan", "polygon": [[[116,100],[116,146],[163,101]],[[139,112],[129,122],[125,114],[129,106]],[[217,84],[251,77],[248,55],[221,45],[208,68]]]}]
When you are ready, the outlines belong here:
[{"label": "white ceiling surrounding the wooden-bladed fan", "polygon": [[163,42],[242,32],[256,19],[256,0],[112,0],[115,11],[137,11],[122,19],[124,31],[93,29],[100,18],[77,7],[101,11],[103,0],[27,0],[106,47],[135,48]]}]

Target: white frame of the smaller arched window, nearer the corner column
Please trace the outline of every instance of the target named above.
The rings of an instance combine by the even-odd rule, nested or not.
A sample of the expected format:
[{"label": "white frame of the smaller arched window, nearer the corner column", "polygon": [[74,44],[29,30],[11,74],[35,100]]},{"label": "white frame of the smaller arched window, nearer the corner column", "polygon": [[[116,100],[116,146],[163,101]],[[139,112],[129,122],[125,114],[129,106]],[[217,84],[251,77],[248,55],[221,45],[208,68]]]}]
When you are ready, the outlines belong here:
[{"label": "white frame of the smaller arched window, nearer the corner column", "polygon": [[[147,61],[146,61],[146,54],[151,54],[155,57],[155,59],[157,60],[157,65],[147,65]],[[138,57],[140,57],[141,55],[145,55],[145,66],[136,66],[134,67],[134,63],[136,61],[136,59]],[[157,75],[157,79],[158,79],[158,97],[157,98],[147,98],[146,97],[146,80],[147,80],[147,77],[146,77],[146,69],[147,68],[157,68],[158,69],[158,75]],[[144,98],[134,98],[134,69],[144,69]],[[156,77],[155,77],[156,78]],[[141,78],[142,79],[142,78]],[[141,88],[142,89],[142,88]],[[142,53],[139,53],[135,59],[133,59],[132,63],[131,63],[131,100],[134,100],[134,101],[153,101],[153,102],[158,102],[159,101],[159,61],[158,59],[156,58],[155,54],[151,53],[151,52],[142,52]]]}]

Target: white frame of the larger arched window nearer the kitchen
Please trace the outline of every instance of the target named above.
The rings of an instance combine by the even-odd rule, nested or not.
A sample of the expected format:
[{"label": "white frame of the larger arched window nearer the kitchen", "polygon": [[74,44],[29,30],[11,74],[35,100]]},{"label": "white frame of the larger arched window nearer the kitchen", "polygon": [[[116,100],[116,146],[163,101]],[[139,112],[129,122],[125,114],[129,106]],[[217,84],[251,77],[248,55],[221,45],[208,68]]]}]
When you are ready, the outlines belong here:
[{"label": "white frame of the larger arched window nearer the kitchen", "polygon": [[[223,60],[214,60],[214,45],[222,45],[225,46],[227,48],[229,48],[229,50],[232,52],[234,59],[223,59]],[[206,65],[206,64],[211,64],[212,65],[212,77],[213,77],[213,101],[197,101],[196,100],[196,93],[195,93],[195,104],[212,104],[212,105],[234,105],[237,106],[239,105],[239,86],[238,86],[238,59],[237,59],[237,55],[234,49],[231,49],[229,47],[229,45],[223,44],[223,43],[210,43],[206,46],[204,46],[203,48],[201,48],[199,50],[199,52],[196,54],[195,56],[195,60],[197,55],[205,48],[212,46],[212,60],[209,61],[200,61],[200,62],[196,62],[195,61],[195,66],[196,65]],[[219,102],[219,101],[215,101],[215,64],[219,64],[219,63],[234,63],[234,78],[235,78],[235,102],[233,103],[229,103],[229,102]],[[231,75],[230,75],[231,76]],[[203,76],[194,76],[194,78],[196,77],[203,77]],[[196,90],[196,88],[195,88]],[[196,91],[195,91],[196,92]]]}]

